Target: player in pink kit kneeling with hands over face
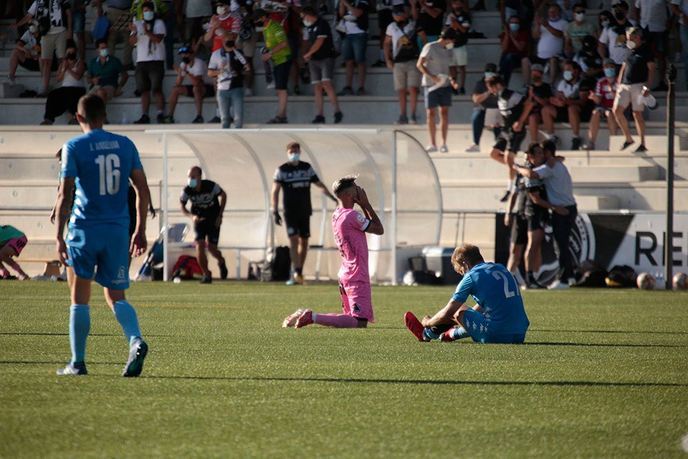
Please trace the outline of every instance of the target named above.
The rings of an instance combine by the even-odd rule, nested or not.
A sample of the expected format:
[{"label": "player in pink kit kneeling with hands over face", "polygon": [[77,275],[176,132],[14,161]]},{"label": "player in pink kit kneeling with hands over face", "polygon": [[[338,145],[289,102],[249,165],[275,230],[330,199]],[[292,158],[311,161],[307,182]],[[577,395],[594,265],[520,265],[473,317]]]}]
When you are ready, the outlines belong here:
[{"label": "player in pink kit kneeling with hands over face", "polygon": [[[284,319],[283,327],[301,328],[311,323],[337,328],[365,328],[374,322],[370,298],[368,272],[368,243],[365,233],[382,235],[385,228],[368,201],[365,190],[354,183],[355,175],[340,178],[332,185],[341,206],[332,214],[334,239],[342,257],[339,268],[339,292],[343,314],[315,314],[310,309],[299,309]],[[363,215],[354,211],[358,204]]]}]

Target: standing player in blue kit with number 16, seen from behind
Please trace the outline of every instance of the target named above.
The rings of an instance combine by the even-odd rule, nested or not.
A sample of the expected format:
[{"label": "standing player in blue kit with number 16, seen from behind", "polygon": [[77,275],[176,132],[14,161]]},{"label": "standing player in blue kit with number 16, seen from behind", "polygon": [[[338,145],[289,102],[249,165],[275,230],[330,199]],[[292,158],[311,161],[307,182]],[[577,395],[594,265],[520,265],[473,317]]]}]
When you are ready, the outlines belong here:
[{"label": "standing player in blue kit with number 16, seen from behind", "polygon": [[[57,253],[67,265],[72,294],[69,310],[72,360],[57,370],[57,374],[87,374],[84,359],[91,328],[88,303],[95,279],[103,286],[105,301],[129,341],[129,359],[122,376],[138,376],[148,345],[141,339],[136,310],[125,299],[125,290],[129,288],[129,253],[137,257],[146,250],[150,191],[133,142],[125,136],[103,131],[103,99],[92,94],[80,98],[76,120],[84,134],[69,140],[62,149],[62,180],[56,203]],[[136,230],[131,241],[129,180],[137,196]]]}]

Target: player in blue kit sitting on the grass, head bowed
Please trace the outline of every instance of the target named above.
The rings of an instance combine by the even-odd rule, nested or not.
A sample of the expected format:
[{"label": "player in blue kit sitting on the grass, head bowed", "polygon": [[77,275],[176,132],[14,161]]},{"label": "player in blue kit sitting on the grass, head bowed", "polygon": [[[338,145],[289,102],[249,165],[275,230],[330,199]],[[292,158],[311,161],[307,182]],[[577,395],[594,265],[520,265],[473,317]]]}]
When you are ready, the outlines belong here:
[{"label": "player in blue kit sitting on the grass, head bowed", "polygon": [[[447,306],[422,322],[412,312],[404,316],[418,341],[471,337],[478,343],[523,343],[530,322],[511,273],[502,264],[486,263],[471,244],[455,248],[451,264],[463,279]],[[469,295],[476,303],[473,308],[465,304]]]}]

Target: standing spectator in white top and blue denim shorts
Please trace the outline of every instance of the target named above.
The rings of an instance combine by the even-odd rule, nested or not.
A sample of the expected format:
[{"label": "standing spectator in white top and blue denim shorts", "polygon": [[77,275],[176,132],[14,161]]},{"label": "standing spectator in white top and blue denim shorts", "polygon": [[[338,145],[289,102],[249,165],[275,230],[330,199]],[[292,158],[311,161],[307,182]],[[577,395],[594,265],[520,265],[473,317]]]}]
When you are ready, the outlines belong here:
[{"label": "standing spectator in white top and blue denim shorts", "polygon": [[358,70],[356,96],[365,96],[367,64],[365,49],[368,45],[368,0],[339,1],[339,17],[344,20],[346,32],[342,41],[342,56],[346,65],[346,86],[337,95],[354,94],[354,63]]}]

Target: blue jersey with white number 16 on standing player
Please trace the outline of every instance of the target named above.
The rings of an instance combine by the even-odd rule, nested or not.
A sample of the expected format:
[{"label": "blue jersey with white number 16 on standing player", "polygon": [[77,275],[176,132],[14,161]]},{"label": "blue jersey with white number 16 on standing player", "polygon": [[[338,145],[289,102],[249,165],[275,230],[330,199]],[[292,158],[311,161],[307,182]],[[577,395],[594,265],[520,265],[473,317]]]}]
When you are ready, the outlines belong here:
[{"label": "blue jersey with white number 16 on standing player", "polygon": [[65,143],[62,177],[75,177],[72,224],[129,225],[127,193],[133,169],[143,169],[138,150],[125,136],[96,129]]}]

